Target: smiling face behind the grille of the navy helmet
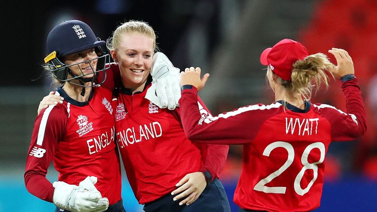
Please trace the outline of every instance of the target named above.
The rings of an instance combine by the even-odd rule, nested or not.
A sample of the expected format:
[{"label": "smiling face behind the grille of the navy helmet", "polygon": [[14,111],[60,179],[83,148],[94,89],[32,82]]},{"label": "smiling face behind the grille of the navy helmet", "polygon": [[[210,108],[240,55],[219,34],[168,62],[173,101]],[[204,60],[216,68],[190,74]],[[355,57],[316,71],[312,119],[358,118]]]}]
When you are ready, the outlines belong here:
[{"label": "smiling face behind the grille of the navy helmet", "polygon": [[[66,65],[71,65],[75,63],[79,63],[77,65],[70,66],[72,73],[76,76],[82,76],[83,78],[89,78],[94,76],[94,71],[97,69],[97,62],[98,60],[90,60],[93,58],[98,57],[95,49],[88,49],[81,52],[73,53],[67,55],[63,58],[63,61]],[[90,60],[84,62],[86,60]],[[84,63],[81,63],[84,62]]]}]

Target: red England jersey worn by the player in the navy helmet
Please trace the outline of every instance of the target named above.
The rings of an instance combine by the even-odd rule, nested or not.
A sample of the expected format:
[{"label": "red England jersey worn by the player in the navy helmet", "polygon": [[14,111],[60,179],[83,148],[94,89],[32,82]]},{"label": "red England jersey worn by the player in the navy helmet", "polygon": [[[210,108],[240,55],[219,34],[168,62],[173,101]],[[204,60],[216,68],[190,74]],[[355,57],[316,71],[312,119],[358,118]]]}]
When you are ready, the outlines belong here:
[{"label": "red England jersey worn by the player in the navy helmet", "polygon": [[87,176],[95,176],[95,186],[102,196],[110,204],[118,202],[121,172],[112,89],[93,88],[88,102],[71,99],[61,88],[57,92],[64,97],[64,103],[49,106],[35,119],[26,161],[27,190],[52,202],[54,188],[45,175],[53,160],[59,181],[78,185]]}]

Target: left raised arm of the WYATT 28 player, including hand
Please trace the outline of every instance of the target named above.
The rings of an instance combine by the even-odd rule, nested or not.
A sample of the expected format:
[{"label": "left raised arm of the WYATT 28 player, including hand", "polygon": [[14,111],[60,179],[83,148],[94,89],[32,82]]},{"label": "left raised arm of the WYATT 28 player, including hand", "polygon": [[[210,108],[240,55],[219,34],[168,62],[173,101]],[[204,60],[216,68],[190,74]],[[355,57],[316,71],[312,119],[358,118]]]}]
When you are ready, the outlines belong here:
[{"label": "left raised arm of the WYATT 28 player, including hand", "polygon": [[[211,144],[247,144],[257,135],[264,121],[273,115],[265,105],[250,105],[212,117],[198,108],[198,90],[204,83],[199,71],[181,72],[180,116],[186,137]],[[204,75],[205,77],[206,75]],[[203,77],[203,78],[204,78]],[[208,77],[208,76],[207,76]],[[276,105],[276,107],[278,107]]]}]

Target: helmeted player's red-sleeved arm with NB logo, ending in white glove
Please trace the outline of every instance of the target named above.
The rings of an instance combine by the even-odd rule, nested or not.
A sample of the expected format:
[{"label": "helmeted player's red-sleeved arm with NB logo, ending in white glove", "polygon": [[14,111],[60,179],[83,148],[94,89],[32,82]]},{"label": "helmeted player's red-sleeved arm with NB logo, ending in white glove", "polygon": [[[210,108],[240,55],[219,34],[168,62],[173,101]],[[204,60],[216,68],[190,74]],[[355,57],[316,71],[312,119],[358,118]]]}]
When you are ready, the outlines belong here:
[{"label": "helmeted player's red-sleeved arm with NB logo, ending in white glove", "polygon": [[40,199],[73,212],[105,211],[109,201],[102,198],[94,186],[97,178],[85,179],[76,186],[64,182],[52,184],[45,177],[58,141],[65,133],[67,117],[65,108],[60,105],[49,106],[37,116],[26,161],[26,189]]}]

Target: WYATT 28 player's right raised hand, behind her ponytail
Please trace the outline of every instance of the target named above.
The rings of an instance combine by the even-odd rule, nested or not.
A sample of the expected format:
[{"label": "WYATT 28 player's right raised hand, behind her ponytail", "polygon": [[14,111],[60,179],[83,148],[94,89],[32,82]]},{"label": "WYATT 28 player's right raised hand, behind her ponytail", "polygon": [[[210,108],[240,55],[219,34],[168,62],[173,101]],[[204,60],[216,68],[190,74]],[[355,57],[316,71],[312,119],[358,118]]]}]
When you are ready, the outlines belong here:
[{"label": "WYATT 28 player's right raised hand, behind her ponytail", "polygon": [[332,48],[328,50],[328,53],[333,54],[337,60],[337,66],[329,67],[329,71],[333,73],[335,78],[340,79],[344,75],[355,73],[352,58],[346,50]]}]

